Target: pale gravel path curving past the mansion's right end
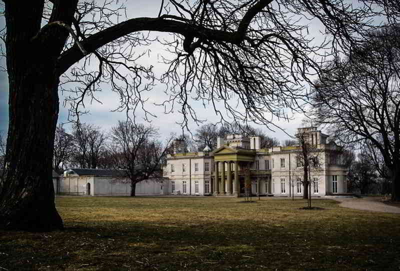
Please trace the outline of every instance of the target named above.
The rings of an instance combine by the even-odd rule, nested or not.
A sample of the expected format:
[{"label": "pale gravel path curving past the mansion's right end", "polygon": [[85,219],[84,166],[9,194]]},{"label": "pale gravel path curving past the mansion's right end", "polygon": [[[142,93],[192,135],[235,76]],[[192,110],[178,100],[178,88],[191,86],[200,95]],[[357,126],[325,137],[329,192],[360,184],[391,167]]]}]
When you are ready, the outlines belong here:
[{"label": "pale gravel path curving past the mansion's right end", "polygon": [[332,198],[340,202],[340,206],[358,210],[381,211],[400,213],[400,208],[383,203],[381,197],[363,197],[363,198]]}]

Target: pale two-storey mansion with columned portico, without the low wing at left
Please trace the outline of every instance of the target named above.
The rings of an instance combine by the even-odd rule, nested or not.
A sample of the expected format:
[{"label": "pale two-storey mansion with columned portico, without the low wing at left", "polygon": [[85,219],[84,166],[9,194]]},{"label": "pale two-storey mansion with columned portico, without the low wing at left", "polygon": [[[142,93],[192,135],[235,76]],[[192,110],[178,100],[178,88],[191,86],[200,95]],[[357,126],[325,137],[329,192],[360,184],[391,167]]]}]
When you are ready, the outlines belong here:
[{"label": "pale two-storey mansion with columned portico, without the low wing at left", "polygon": [[[309,169],[311,195],[346,193],[347,168],[342,152],[315,127],[299,128],[318,163]],[[303,165],[301,146],[260,148],[259,136],[227,134],[217,138],[217,147],[198,152],[167,155],[163,177],[164,194],[301,196]]]}]

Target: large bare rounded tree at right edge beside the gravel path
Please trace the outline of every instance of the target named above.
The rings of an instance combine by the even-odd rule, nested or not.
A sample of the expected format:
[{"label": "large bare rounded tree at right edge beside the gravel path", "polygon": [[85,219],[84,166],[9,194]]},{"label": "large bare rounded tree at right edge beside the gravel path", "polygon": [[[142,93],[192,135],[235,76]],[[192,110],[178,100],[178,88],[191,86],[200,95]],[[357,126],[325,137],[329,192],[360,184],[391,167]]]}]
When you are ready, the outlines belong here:
[{"label": "large bare rounded tree at right edge beside the gravel path", "polygon": [[315,121],[343,143],[367,140],[379,150],[400,200],[400,28],[384,26],[327,65],[315,83]]}]

